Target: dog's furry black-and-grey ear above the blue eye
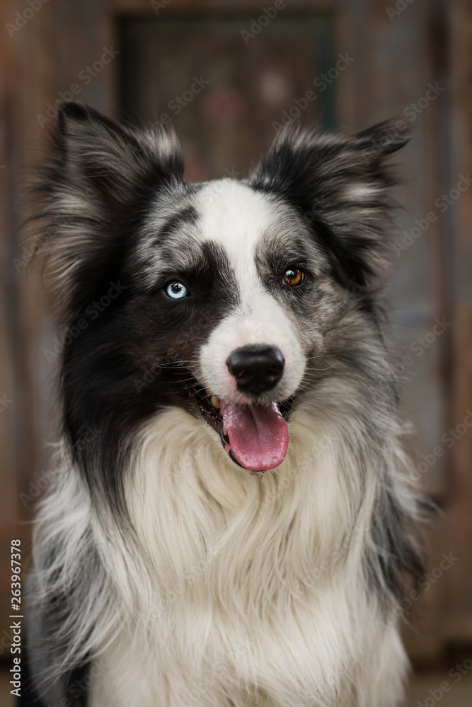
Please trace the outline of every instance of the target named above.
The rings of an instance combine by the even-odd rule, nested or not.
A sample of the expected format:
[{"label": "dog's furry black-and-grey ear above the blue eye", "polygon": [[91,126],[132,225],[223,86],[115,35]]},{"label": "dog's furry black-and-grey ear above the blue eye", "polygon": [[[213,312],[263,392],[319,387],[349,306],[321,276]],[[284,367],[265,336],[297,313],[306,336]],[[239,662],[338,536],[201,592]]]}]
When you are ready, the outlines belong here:
[{"label": "dog's furry black-and-grey ear above the blue eye", "polygon": [[31,192],[41,222],[38,243],[70,319],[107,279],[144,205],[183,180],[171,132],[122,127],[93,108],[64,103],[50,157]]}]

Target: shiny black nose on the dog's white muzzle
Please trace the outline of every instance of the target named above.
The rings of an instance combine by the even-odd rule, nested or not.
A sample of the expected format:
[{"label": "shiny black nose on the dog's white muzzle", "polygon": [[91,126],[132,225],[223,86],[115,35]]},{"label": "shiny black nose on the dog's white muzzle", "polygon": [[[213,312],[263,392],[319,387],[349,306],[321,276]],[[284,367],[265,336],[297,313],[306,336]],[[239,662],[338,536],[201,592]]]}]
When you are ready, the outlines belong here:
[{"label": "shiny black nose on the dog's white muzzle", "polygon": [[243,346],[226,360],[238,390],[259,395],[271,390],[282,378],[284,357],[275,346]]}]

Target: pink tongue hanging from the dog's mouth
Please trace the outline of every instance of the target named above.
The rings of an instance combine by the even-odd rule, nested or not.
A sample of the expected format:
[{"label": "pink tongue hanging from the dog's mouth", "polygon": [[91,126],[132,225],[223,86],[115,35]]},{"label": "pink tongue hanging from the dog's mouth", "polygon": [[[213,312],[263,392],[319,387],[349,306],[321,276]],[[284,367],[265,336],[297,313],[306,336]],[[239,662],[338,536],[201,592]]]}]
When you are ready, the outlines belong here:
[{"label": "pink tongue hanging from the dog's mouth", "polygon": [[[275,402],[242,408],[221,400],[223,431],[236,460],[251,471],[282,464],[289,445],[289,429]],[[229,450],[227,450],[229,451]]]}]

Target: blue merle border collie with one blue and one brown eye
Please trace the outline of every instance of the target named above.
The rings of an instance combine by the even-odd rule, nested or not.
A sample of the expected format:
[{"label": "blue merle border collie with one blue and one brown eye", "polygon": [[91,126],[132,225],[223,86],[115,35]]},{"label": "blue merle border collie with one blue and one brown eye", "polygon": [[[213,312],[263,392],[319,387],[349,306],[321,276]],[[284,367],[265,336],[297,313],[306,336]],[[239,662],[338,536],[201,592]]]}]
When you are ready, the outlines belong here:
[{"label": "blue merle border collie with one blue and one brown eye", "polygon": [[420,514],[381,286],[406,141],[287,129],[248,178],[189,183],[173,134],[62,107],[33,187],[69,327],[39,703],[401,702]]}]

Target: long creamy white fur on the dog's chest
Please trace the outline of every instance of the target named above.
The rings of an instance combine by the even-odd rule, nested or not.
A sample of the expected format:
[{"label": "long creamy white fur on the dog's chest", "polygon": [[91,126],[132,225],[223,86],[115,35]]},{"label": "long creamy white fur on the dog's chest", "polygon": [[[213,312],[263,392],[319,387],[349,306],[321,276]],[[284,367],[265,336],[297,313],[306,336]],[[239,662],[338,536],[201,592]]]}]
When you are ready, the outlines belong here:
[{"label": "long creamy white fur on the dog's chest", "polygon": [[213,442],[171,410],[144,443],[129,490],[143,554],[92,707],[396,704],[403,648],[375,628],[334,446],[295,420],[287,460],[257,479]]}]

